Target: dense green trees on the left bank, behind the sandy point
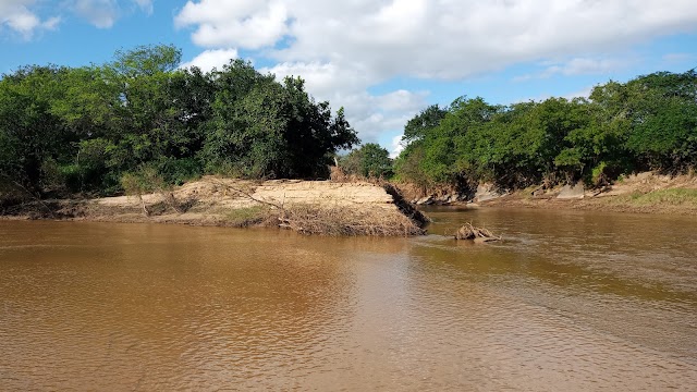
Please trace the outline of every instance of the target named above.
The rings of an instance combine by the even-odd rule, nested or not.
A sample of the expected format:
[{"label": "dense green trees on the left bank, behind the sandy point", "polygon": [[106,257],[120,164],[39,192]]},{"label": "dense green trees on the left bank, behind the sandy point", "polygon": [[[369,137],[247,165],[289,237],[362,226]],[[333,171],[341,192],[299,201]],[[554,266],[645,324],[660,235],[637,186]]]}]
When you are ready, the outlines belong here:
[{"label": "dense green trees on the left bank, behind the sandy point", "polygon": [[103,65],[2,75],[0,187],[50,196],[119,193],[140,173],[317,177],[358,143],[343,109],[332,115],[299,78],[280,83],[241,60],[209,73],[180,61],[172,46],[147,46]]}]

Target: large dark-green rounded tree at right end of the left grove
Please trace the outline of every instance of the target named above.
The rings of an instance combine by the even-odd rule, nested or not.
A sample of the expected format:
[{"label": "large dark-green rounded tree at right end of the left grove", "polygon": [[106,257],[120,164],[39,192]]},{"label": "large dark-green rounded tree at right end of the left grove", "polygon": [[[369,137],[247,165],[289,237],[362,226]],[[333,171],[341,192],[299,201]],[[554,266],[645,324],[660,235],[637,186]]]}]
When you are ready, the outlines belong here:
[{"label": "large dark-green rounded tree at right end of the left grove", "polygon": [[253,70],[232,62],[223,71],[230,83],[242,77],[242,87],[232,83],[237,87],[216,94],[201,152],[207,170],[252,177],[327,176],[331,154],[357,143],[343,109],[332,118],[329,102],[315,102],[301,78],[281,84]]}]

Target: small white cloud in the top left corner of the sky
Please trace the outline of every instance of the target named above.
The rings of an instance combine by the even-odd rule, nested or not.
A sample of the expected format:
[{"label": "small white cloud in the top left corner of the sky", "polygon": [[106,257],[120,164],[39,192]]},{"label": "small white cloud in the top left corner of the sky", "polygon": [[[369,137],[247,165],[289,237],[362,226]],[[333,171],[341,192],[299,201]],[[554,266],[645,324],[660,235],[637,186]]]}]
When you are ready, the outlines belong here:
[{"label": "small white cloud in the top left corner of the sky", "polygon": [[41,21],[30,9],[34,3],[34,0],[0,1],[0,27],[8,26],[24,39],[32,39],[37,30],[56,29],[60,17],[53,16]]}]

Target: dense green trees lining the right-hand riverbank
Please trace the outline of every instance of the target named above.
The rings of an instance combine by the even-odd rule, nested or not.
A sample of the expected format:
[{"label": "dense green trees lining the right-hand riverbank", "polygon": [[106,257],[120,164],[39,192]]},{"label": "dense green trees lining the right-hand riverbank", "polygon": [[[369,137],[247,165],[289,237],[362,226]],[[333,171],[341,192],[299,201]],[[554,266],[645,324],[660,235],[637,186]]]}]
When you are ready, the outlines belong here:
[{"label": "dense green trees lining the right-hand riverbank", "polygon": [[461,97],[421,111],[403,140],[396,175],[423,187],[601,185],[637,170],[680,172],[697,166],[697,73],[609,82],[588,99],[502,107]]}]

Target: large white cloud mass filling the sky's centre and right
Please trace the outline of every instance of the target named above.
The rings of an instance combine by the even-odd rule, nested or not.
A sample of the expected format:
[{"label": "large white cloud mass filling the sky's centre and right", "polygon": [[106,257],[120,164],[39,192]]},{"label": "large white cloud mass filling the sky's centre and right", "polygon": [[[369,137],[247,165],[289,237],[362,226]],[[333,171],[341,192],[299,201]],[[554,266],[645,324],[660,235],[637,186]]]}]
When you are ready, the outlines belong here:
[{"label": "large white cloud mass filling the sky's centre and right", "polygon": [[[175,24],[205,48],[239,48],[296,74],[366,139],[401,128],[424,93],[369,94],[398,77],[462,79],[515,63],[543,74],[626,66],[609,53],[649,37],[694,32],[694,0],[189,0]],[[560,61],[560,59],[571,59]],[[631,60],[631,59],[629,59]],[[530,75],[539,77],[539,75]],[[423,105],[420,108],[413,107]]]}]

